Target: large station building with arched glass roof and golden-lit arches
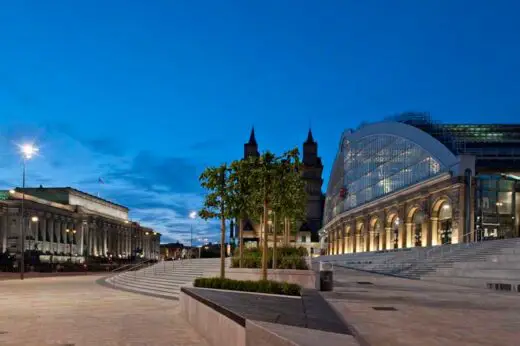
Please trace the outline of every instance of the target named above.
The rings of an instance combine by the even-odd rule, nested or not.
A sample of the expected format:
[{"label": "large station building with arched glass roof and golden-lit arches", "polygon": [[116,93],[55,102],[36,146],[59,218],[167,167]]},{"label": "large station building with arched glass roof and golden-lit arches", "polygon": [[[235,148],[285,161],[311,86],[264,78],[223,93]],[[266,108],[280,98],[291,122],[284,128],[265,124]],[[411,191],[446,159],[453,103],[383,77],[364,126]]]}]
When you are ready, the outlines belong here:
[{"label": "large station building with arched glass roof and golden-lit arches", "polygon": [[404,114],[341,135],[327,187],[327,254],[520,236],[520,125]]}]

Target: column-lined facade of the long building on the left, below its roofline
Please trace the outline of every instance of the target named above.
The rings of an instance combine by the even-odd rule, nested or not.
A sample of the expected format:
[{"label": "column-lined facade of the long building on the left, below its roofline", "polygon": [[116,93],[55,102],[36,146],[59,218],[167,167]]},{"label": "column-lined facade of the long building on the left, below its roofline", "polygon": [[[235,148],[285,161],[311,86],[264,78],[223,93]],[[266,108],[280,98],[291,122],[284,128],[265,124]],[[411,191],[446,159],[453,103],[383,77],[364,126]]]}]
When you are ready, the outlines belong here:
[{"label": "column-lined facade of the long building on the left, below its roofline", "polygon": [[[133,252],[157,258],[160,236],[137,223],[102,217],[73,218],[52,213],[27,213],[25,250],[74,256],[128,258]],[[21,217],[0,214],[0,251],[21,249]]]}]

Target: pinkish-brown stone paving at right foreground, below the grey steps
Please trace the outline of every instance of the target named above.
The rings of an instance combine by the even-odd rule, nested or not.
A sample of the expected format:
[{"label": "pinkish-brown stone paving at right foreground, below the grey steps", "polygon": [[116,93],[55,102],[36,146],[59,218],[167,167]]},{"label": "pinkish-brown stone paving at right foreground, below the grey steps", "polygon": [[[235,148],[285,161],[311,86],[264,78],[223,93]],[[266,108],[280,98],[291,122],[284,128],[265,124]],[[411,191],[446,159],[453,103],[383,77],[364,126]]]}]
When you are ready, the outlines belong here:
[{"label": "pinkish-brown stone paving at right foreground, below the grey steps", "polygon": [[322,295],[367,345],[520,344],[518,293],[399,279],[339,267],[334,274],[334,292]]}]

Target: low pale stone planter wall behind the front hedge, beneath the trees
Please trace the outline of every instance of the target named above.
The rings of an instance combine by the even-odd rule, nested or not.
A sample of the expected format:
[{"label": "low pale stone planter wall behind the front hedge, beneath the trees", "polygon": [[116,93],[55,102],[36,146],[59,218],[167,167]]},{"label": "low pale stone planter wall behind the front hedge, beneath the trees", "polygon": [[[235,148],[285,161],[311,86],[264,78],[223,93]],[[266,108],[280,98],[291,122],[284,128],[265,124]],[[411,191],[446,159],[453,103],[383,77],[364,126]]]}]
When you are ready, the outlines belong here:
[{"label": "low pale stone planter wall behind the front hedge, beneath the trees", "polygon": [[[206,271],[204,277],[219,276],[219,271]],[[262,277],[261,269],[226,268],[226,278],[234,280],[259,280]],[[298,269],[269,269],[267,279],[274,281],[298,284],[303,288],[316,288],[316,273],[312,270]]]}]

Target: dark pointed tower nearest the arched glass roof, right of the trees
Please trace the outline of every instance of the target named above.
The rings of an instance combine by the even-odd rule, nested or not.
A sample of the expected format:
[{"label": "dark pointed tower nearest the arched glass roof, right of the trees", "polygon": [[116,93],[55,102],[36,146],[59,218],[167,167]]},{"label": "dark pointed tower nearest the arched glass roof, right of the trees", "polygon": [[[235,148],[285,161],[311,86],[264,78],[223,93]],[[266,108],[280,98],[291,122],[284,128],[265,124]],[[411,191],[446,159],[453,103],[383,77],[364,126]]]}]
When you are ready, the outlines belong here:
[{"label": "dark pointed tower nearest the arched glass roof, right of the trees", "polygon": [[305,180],[305,191],[307,193],[307,222],[302,225],[301,230],[311,232],[314,241],[318,239],[318,230],[321,228],[323,217],[324,197],[321,192],[323,179],[323,164],[318,156],[318,143],[312,137],[309,129],[307,140],[303,143],[303,169],[302,176]]}]

